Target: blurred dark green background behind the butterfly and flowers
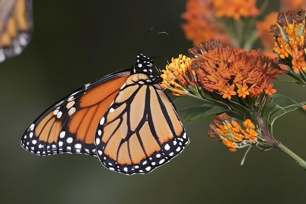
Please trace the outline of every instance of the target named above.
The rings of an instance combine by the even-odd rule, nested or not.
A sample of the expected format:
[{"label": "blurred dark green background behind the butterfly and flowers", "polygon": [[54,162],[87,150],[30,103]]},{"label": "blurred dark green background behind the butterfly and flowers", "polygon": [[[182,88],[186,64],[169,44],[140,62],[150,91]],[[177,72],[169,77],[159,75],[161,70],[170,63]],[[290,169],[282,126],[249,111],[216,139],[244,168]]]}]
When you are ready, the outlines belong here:
[{"label": "blurred dark green background behind the butterfly and flowers", "polygon": [[[262,1],[261,1],[262,2]],[[148,175],[125,176],[85,155],[34,156],[20,146],[25,129],[51,104],[106,74],[130,68],[151,27],[148,56],[188,54],[180,15],[184,0],[34,0],[34,36],[18,57],[0,64],[1,204],[305,204],[306,172],[278,149],[231,153],[207,136],[212,118],[185,123],[185,151]],[[273,10],[277,1],[270,1]],[[153,43],[152,43],[153,42]],[[156,65],[165,65],[164,59]],[[287,79],[282,77],[282,80]],[[278,93],[305,100],[305,89],[274,82]],[[192,98],[175,101],[182,109]],[[274,133],[306,159],[306,113],[278,119]]]}]

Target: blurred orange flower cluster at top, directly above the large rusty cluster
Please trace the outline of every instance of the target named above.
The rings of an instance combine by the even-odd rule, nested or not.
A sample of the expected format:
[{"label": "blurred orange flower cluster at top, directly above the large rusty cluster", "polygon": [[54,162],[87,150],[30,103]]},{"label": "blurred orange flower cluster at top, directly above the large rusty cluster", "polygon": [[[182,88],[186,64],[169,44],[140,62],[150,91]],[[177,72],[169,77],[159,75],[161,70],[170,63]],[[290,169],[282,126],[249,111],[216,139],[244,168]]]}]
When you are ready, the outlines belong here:
[{"label": "blurred orange flower cluster at top, directly above the large rusty cluster", "polygon": [[194,45],[211,39],[228,41],[222,24],[215,18],[213,0],[188,0],[182,18],[186,21],[182,24],[186,38]]}]

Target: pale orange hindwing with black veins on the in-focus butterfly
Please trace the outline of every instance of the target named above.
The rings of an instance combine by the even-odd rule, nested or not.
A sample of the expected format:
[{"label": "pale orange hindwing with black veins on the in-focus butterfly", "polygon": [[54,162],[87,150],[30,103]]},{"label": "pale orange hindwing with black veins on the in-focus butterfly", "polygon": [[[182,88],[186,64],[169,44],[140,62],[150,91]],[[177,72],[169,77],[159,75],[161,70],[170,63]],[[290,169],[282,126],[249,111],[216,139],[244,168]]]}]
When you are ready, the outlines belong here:
[{"label": "pale orange hindwing with black veins on the in-focus butterfly", "polygon": [[101,119],[97,155],[108,169],[149,173],[189,143],[168,96],[145,74],[131,75]]}]

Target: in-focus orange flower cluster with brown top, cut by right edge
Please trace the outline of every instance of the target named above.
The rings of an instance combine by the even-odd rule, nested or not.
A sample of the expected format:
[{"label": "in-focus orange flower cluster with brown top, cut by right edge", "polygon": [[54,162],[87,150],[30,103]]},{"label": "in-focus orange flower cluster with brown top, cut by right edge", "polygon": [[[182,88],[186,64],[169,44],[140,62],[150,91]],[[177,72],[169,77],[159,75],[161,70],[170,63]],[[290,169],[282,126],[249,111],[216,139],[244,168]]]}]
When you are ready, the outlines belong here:
[{"label": "in-focus orange flower cluster with brown top, cut by right edge", "polygon": [[303,9],[279,13],[277,23],[270,26],[275,40],[274,51],[280,58],[291,61],[295,72],[306,71],[305,15]]}]

